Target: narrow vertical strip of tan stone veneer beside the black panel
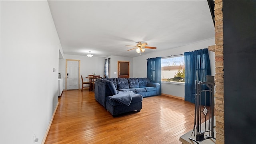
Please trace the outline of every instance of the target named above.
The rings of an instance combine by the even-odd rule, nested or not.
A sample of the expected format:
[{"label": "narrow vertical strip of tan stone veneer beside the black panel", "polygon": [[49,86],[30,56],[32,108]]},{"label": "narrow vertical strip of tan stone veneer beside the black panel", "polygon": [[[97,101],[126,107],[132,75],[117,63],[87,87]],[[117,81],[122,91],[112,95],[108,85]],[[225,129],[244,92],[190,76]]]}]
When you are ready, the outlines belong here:
[{"label": "narrow vertical strip of tan stone veneer beside the black panel", "polygon": [[215,0],[216,144],[224,144],[224,66],[222,0]]}]

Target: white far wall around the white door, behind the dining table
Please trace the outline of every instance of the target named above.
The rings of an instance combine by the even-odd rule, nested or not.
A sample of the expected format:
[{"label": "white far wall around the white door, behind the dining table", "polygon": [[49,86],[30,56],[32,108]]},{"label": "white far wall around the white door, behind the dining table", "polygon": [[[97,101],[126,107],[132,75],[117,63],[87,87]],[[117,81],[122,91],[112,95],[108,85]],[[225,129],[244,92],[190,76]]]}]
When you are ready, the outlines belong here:
[{"label": "white far wall around the white door, behind the dining table", "polygon": [[[75,59],[80,60],[80,75],[83,77],[88,77],[88,75],[92,75],[92,73],[96,73],[96,75],[100,75],[103,77],[104,75],[104,57],[87,57],[86,55],[65,55],[65,59],[59,59],[59,73],[61,73],[61,77],[64,77],[63,81],[63,89],[65,89],[65,75],[66,75],[66,59]],[[81,76],[80,79],[80,88],[82,87]],[[84,79],[84,81],[88,81],[88,79]]]}]

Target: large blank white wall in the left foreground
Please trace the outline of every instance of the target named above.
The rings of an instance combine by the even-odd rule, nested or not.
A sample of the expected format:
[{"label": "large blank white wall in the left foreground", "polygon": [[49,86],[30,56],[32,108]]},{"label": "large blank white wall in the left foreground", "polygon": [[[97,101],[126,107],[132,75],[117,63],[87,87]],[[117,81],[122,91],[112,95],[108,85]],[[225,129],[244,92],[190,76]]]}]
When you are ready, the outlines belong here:
[{"label": "large blank white wall in the left foreground", "polygon": [[58,103],[59,47],[46,0],[1,1],[0,144],[42,142]]}]

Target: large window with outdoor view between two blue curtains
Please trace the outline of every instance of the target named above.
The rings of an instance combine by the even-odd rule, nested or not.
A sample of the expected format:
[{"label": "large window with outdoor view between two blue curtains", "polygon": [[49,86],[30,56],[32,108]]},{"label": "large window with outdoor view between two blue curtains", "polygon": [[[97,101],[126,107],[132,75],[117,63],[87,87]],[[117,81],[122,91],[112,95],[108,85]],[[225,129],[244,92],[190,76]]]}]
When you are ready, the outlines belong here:
[{"label": "large window with outdoor view between two blue curtains", "polygon": [[162,58],[161,81],[185,82],[184,55],[178,57]]}]

